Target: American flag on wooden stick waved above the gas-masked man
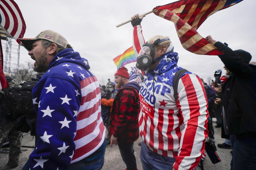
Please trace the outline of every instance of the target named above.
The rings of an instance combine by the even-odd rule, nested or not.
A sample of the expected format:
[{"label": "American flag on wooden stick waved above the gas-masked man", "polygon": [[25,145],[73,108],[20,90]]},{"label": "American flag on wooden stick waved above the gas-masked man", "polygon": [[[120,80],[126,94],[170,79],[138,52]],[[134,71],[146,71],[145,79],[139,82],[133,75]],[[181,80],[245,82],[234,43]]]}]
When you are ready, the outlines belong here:
[{"label": "American flag on wooden stick waved above the gas-masked man", "polygon": [[218,51],[196,30],[215,12],[233,6],[243,0],[181,0],[153,10],[154,14],[174,23],[183,48],[202,55],[219,55]]}]

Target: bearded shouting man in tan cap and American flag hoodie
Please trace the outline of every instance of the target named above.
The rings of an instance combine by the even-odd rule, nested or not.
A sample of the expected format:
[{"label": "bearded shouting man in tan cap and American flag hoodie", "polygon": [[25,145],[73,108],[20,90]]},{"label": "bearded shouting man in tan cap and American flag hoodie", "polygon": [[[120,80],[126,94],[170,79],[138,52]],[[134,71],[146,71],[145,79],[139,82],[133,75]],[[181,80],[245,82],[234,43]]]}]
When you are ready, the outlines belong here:
[{"label": "bearded shouting man in tan cap and American flag hoodie", "polygon": [[88,61],[59,33],[45,30],[20,39],[34,70],[46,73],[32,91],[39,140],[23,169],[101,169],[105,126],[101,93]]}]

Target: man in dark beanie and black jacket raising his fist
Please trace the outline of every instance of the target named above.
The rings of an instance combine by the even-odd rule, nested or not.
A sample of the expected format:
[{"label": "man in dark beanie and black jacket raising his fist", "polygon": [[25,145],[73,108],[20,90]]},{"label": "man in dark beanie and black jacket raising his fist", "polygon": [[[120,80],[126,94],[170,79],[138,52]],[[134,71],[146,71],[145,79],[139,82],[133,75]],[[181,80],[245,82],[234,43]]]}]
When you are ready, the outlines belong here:
[{"label": "man in dark beanie and black jacket raising his fist", "polygon": [[233,144],[231,170],[256,169],[256,66],[249,64],[250,53],[233,51],[211,36],[206,40],[223,52],[219,58],[231,71],[222,89],[215,88],[222,93],[222,138],[230,135]]}]

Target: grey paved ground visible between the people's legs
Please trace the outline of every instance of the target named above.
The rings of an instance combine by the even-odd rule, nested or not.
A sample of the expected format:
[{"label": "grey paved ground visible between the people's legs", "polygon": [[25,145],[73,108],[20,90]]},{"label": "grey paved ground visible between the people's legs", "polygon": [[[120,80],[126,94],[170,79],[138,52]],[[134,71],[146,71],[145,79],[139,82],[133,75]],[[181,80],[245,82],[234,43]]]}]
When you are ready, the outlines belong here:
[{"label": "grey paved ground visible between the people's legs", "polygon": [[[216,124],[214,124],[215,126]],[[221,138],[221,129],[220,128],[214,128],[215,134],[215,144],[217,146],[218,143],[223,143],[224,139]],[[139,159],[139,153],[140,153],[140,146],[138,146],[138,143],[141,142],[141,138],[139,138],[137,141],[134,142],[134,152],[135,152],[135,157],[137,161],[137,168],[139,170],[142,170],[142,165]],[[34,139],[30,135],[26,135],[22,139],[22,145],[23,146],[34,146]],[[4,148],[8,149],[8,148]],[[231,154],[230,154],[230,149],[222,149],[222,148],[217,148],[217,153],[219,157],[221,158],[221,162],[217,164],[212,164],[208,156],[206,156],[205,160],[203,161],[203,167],[205,170],[215,170],[215,169],[223,169],[223,170],[229,170],[230,169],[230,161],[231,161]],[[23,165],[26,163],[29,154],[33,151],[33,148],[27,148],[27,147],[22,147],[22,154],[20,157],[19,161],[19,166],[16,168],[13,168],[12,170],[21,170]],[[10,170],[6,166],[8,162],[8,154],[6,153],[1,153],[0,152],[0,169],[1,170]],[[2,167],[2,168],[1,168]],[[102,170],[123,170],[125,169],[126,166],[122,161],[120,152],[118,150],[118,146],[113,146],[107,147],[106,148],[106,154],[105,154],[105,163],[102,168]],[[197,167],[197,170],[200,168]]]}]

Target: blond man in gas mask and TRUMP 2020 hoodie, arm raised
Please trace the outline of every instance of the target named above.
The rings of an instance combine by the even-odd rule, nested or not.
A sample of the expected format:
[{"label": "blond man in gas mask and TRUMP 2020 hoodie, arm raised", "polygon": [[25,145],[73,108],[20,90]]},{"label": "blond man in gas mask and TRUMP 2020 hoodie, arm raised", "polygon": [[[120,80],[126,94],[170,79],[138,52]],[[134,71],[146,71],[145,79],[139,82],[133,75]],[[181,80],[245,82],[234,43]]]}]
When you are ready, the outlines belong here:
[{"label": "blond man in gas mask and TRUMP 2020 hoodie, arm raised", "polygon": [[139,92],[140,158],[147,169],[194,169],[200,161],[208,136],[207,99],[201,79],[186,72],[179,79],[178,99],[174,99],[173,78],[178,53],[169,37],[154,36],[145,43],[141,21],[131,17],[133,49],[137,67],[145,71]]}]

